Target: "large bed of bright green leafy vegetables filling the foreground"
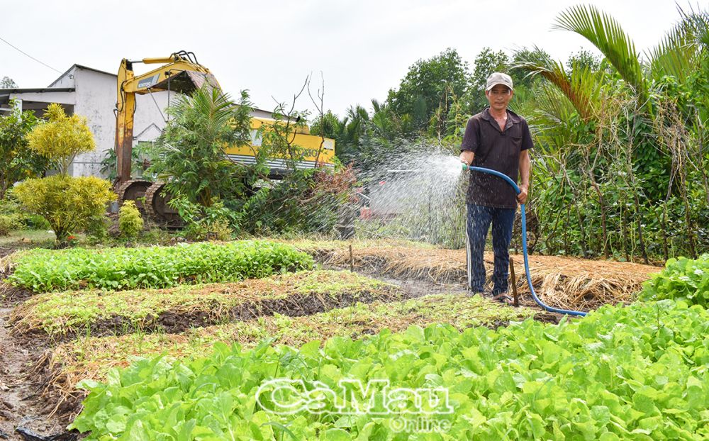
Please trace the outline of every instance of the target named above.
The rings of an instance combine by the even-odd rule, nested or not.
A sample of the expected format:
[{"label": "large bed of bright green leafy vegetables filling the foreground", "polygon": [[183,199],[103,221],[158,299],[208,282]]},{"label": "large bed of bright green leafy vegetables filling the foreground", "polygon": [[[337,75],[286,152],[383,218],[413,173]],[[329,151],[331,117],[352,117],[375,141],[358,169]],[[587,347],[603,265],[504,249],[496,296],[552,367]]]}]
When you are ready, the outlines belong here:
[{"label": "large bed of bright green leafy vegetables filling the foreground", "polygon": [[[334,337],[322,348],[318,341],[299,349],[216,345],[208,357],[157,357],[106,384],[87,381],[91,393],[72,427],[94,440],[706,439],[707,330],[703,308],[661,301],[605,306],[559,325],[525,320],[463,333],[413,326],[365,340]],[[445,388],[452,412],[428,415],[445,430],[419,435],[401,433],[397,423],[425,416],[411,396],[386,414],[342,414],[325,394],[322,408],[283,415],[269,398],[266,406],[256,401],[274,379],[332,389],[341,379]],[[281,398],[307,398],[298,391]],[[364,391],[352,393],[364,402]]]}]

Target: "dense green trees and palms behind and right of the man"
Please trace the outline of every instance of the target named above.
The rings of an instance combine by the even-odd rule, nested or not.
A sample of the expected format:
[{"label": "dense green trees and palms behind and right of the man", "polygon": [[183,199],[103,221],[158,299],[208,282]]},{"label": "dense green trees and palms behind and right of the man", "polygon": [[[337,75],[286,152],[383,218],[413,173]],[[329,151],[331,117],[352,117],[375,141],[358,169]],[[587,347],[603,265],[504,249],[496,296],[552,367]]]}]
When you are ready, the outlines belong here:
[{"label": "dense green trees and palms behind and right of the man", "polygon": [[[411,65],[386,101],[342,118],[325,113],[313,132],[335,138],[340,159],[364,174],[408,146],[455,154],[468,118],[486,106],[486,77],[507,72],[510,107],[527,118],[535,141],[527,203],[535,252],[696,257],[709,250],[709,13],[679,15],[641,57],[612,16],[574,6],[554,28],[583,36],[591,50],[562,62],[543,48],[484,48],[469,69],[449,48]],[[394,220],[389,230],[407,230],[400,226]]]}]

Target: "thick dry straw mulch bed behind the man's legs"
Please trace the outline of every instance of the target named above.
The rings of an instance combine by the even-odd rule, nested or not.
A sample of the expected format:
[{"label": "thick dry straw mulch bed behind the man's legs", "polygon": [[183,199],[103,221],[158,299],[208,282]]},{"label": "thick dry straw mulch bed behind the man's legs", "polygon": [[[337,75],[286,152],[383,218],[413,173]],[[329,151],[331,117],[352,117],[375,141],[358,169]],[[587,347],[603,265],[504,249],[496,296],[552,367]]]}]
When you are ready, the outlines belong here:
[{"label": "thick dry straw mulch bed behind the man's legs", "polygon": [[[367,244],[369,245],[369,244]],[[464,284],[467,278],[465,250],[417,247],[340,247],[322,254],[325,264],[354,267],[364,272],[397,279],[424,279],[437,284]],[[523,255],[512,255],[516,285],[522,304],[534,304],[525,277]],[[604,304],[629,303],[642,282],[661,268],[627,262],[608,262],[575,257],[529,257],[535,293],[549,306],[588,311]],[[488,279],[493,255],[486,253]]]}]

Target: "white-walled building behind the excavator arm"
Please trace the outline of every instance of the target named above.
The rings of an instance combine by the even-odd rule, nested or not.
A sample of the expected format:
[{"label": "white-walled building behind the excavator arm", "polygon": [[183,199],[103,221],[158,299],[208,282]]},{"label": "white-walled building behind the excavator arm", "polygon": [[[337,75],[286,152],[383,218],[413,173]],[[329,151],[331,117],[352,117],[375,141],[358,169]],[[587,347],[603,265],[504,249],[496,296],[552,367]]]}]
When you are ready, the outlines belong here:
[{"label": "white-walled building behind the excavator arm", "polygon": [[[155,92],[137,95],[133,145],[155,140],[165,125],[164,109],[175,93]],[[52,84],[41,89],[0,89],[0,106],[18,100],[23,110],[33,110],[38,117],[47,106],[62,104],[67,114],[85,116],[94,134],[96,150],[78,155],[69,167],[71,176],[103,176],[101,161],[113,150],[116,140],[116,74],[82,65],[69,67]]]}]

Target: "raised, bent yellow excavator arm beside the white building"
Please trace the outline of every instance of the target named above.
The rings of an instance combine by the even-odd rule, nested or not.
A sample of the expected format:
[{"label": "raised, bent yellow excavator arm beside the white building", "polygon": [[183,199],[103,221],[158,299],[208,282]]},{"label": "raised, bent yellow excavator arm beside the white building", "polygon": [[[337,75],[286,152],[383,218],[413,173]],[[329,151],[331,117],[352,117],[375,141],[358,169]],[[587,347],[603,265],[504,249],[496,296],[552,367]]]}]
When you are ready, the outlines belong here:
[{"label": "raised, bent yellow excavator arm beside the white building", "polygon": [[[133,64],[162,64],[145,74],[135,75]],[[133,114],[135,94],[155,91],[174,91],[190,94],[207,82],[219,87],[209,69],[200,65],[192,52],[174,52],[169,57],[121,60],[116,91],[116,157],[118,158],[117,186],[130,180],[130,155],[133,150]]]}]

